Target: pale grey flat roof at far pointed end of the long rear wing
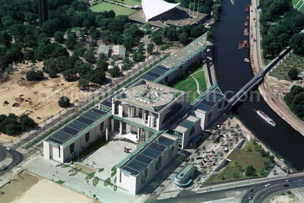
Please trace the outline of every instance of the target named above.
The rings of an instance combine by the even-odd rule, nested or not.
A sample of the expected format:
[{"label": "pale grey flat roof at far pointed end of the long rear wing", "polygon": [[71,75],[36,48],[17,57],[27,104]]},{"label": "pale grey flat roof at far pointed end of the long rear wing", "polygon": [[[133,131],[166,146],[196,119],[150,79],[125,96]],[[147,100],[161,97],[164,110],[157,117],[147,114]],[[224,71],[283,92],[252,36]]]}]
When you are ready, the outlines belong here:
[{"label": "pale grey flat roof at far pointed end of the long rear wing", "polygon": [[182,64],[188,58],[191,58],[196,52],[201,51],[202,49],[206,48],[207,44],[207,32],[193,40],[190,44],[181,48],[173,55],[166,58],[164,61],[161,62],[161,65],[166,68],[173,68]]}]

